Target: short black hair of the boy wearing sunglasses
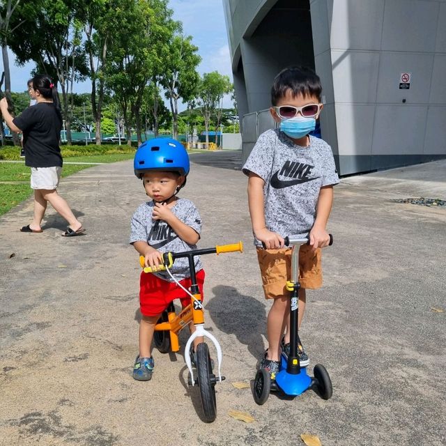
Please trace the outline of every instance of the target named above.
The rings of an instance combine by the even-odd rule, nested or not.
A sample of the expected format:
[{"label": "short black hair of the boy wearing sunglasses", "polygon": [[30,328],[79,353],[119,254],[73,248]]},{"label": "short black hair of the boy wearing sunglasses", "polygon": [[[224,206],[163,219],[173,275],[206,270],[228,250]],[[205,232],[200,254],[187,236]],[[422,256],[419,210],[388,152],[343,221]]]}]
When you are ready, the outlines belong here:
[{"label": "short black hair of the boy wearing sunglasses", "polygon": [[312,68],[293,66],[279,72],[272,83],[271,104],[277,105],[277,102],[284,98],[288,90],[291,90],[293,97],[301,94],[304,98],[315,96],[321,101],[321,79]]}]

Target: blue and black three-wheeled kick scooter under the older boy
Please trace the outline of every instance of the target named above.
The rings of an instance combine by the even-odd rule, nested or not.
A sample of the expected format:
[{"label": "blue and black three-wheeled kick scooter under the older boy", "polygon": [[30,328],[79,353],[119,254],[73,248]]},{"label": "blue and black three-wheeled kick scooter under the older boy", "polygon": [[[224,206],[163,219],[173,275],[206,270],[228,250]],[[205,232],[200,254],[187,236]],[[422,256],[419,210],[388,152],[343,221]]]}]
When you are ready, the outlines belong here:
[{"label": "blue and black three-wheeled kick scooter under the older boy", "polygon": [[[286,282],[286,289],[291,292],[290,299],[290,355],[282,352],[280,357],[279,372],[276,374],[275,388],[271,388],[270,374],[266,369],[259,369],[254,379],[254,401],[261,405],[266,403],[270,396],[270,391],[281,390],[284,394],[297,397],[306,390],[314,390],[319,397],[330,399],[333,394],[332,382],[328,371],[322,364],[316,364],[313,369],[314,377],[307,374],[307,367],[300,367],[298,357],[298,291],[299,283],[299,247],[309,243],[308,238],[285,238],[286,246],[293,246],[291,252],[291,280]],[[330,245],[333,243],[333,236],[330,234]]]}]

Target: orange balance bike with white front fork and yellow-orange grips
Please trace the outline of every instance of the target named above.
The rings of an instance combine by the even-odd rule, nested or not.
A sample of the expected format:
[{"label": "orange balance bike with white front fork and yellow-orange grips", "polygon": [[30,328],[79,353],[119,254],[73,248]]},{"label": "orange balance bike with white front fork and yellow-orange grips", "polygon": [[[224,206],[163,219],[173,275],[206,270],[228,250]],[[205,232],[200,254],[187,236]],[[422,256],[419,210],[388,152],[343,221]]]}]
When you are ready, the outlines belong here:
[{"label": "orange balance bike with white front fork and yellow-orange grips", "polygon": [[[195,331],[187,340],[185,346],[185,362],[187,369],[190,371],[190,379],[188,384],[191,386],[197,385],[199,387],[201,405],[203,406],[204,421],[213,422],[217,415],[217,403],[215,401],[215,384],[222,382],[224,376],[220,372],[222,364],[222,348],[217,339],[204,328],[204,312],[203,304],[201,303],[201,294],[197,285],[197,277],[195,272],[194,257],[203,254],[221,254],[222,252],[243,252],[242,242],[234,243],[232,245],[215,246],[208,249],[194,249],[187,252],[165,252],[162,255],[163,265],[156,270],[144,267],[144,256],[139,257],[139,263],[144,272],[158,272],[160,270],[167,270],[169,275],[175,282],[178,281],[169,271],[169,268],[174,264],[175,259],[186,257],[189,261],[190,279],[192,286],[190,291],[183,288],[183,291],[190,295],[190,304],[176,313],[174,303],[171,302],[169,307],[162,313],[160,320],[155,325],[155,333],[153,334],[153,342],[160,353],[167,353],[169,351],[177,352],[180,350],[178,341],[178,333],[190,323],[195,326]],[[206,337],[213,342],[217,351],[218,376],[213,373],[213,363],[210,360],[209,348],[205,342],[201,342],[197,346],[197,358],[194,360],[194,366],[197,368],[197,380],[194,378],[194,369],[192,369],[191,355],[189,354],[192,342],[197,337]]]}]

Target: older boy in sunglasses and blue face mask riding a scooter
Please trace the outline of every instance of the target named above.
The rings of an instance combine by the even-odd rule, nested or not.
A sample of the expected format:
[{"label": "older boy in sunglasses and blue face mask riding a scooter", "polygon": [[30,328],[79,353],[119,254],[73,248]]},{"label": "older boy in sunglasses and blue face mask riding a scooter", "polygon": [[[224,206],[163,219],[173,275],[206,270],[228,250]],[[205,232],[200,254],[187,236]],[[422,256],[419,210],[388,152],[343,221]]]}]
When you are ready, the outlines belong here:
[{"label": "older boy in sunglasses and blue face mask riding a scooter", "polygon": [[[243,172],[249,176],[248,201],[254,245],[267,299],[273,299],[267,320],[268,349],[261,366],[272,384],[281,351],[289,354],[289,292],[291,248],[284,237],[309,236],[299,252],[299,321],[305,311],[305,289],[322,285],[321,248],[330,237],[325,230],[332,208],[333,185],[339,183],[330,146],[309,135],[323,105],[321,82],[305,67],[279,72],[271,89],[272,118],[279,128],[259,136]],[[309,364],[300,340],[301,367]]]}]

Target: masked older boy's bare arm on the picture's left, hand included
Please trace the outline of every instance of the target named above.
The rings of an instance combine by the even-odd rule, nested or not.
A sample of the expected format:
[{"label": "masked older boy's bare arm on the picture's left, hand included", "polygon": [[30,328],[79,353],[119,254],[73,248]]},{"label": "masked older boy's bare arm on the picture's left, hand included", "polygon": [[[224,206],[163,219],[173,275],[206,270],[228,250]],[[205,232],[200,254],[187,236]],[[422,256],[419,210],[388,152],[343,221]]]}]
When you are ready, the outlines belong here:
[{"label": "masked older boy's bare arm on the picture's left, hand included", "polygon": [[254,236],[265,244],[267,249],[284,247],[284,239],[279,234],[268,231],[265,222],[265,210],[263,208],[263,186],[265,181],[254,172],[249,172],[248,179],[248,205],[251,215],[252,231]]}]

